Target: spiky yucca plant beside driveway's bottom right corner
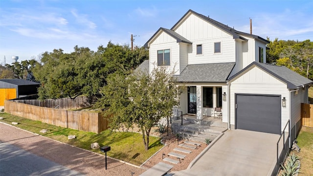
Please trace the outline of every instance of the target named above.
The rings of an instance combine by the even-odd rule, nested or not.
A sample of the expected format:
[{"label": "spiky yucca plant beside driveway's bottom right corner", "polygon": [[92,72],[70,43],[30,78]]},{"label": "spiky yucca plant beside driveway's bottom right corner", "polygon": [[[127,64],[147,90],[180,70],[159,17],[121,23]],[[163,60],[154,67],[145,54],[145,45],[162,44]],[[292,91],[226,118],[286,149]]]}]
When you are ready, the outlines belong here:
[{"label": "spiky yucca plant beside driveway's bottom right corner", "polygon": [[299,167],[299,157],[295,154],[290,154],[286,159],[285,165],[280,164],[282,166],[281,176],[295,176],[299,173],[297,168]]}]

